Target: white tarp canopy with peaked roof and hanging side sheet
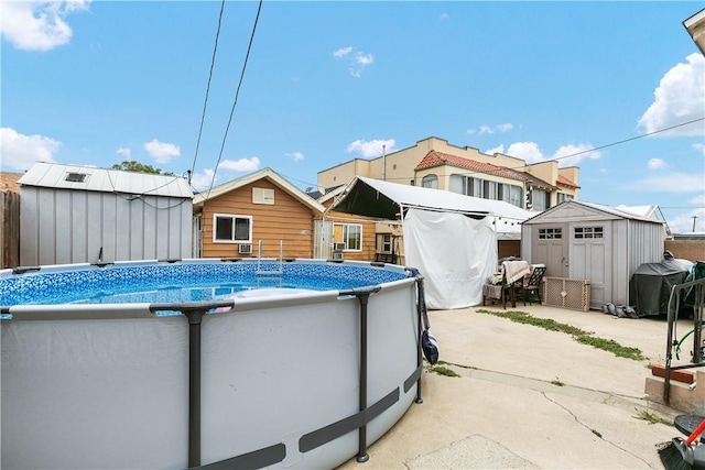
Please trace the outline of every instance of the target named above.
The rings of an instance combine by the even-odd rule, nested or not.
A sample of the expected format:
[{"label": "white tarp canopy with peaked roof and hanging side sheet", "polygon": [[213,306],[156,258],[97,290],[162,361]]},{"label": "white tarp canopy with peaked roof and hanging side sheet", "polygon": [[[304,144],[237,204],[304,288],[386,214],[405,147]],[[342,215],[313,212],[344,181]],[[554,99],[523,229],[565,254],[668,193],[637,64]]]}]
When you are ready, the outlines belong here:
[{"label": "white tarp canopy with peaked roof and hanging side sheet", "polygon": [[[465,308],[482,300],[497,269],[495,227],[519,227],[531,214],[511,204],[358,176],[333,210],[402,219],[406,265],[424,276],[426,306]],[[403,217],[401,216],[403,215]],[[496,222],[496,223],[492,223]]]}]

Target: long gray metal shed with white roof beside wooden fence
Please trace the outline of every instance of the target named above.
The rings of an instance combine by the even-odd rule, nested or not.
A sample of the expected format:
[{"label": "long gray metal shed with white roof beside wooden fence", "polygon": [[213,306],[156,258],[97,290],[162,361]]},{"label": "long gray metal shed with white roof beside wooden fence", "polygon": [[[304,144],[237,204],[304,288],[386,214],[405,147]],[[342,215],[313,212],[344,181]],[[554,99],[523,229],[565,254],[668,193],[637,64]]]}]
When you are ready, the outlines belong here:
[{"label": "long gray metal shed with white roof beside wooden fence", "polygon": [[37,163],[18,183],[21,265],[191,258],[181,176]]}]

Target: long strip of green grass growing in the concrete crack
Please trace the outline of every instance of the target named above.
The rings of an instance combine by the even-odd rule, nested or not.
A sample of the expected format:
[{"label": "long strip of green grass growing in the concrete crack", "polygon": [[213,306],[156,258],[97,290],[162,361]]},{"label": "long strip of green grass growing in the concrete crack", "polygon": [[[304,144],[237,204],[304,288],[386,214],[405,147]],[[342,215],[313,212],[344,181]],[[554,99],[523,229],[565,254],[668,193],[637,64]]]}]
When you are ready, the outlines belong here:
[{"label": "long strip of green grass growing in the concrete crack", "polygon": [[593,336],[592,331],[585,331],[581,328],[567,324],[562,324],[551,318],[532,317],[525,311],[520,310],[500,311],[478,308],[476,311],[478,314],[494,315],[496,317],[507,318],[518,324],[533,325],[549,331],[565,332],[567,335],[571,335],[577,342],[611,352],[618,358],[633,359],[634,361],[643,361],[647,359],[638,348],[621,346],[617,341],[614,341],[611,339],[597,338]]}]

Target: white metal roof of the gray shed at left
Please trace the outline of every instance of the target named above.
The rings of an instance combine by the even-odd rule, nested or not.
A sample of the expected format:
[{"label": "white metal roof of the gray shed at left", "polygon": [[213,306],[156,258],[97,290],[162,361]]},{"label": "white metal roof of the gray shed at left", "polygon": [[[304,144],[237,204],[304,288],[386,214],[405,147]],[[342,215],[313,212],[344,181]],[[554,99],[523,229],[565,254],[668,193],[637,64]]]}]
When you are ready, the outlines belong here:
[{"label": "white metal roof of the gray shed at left", "polygon": [[18,182],[20,186],[91,190],[131,195],[193,198],[181,176],[154,175],[93,166],[36,163]]}]

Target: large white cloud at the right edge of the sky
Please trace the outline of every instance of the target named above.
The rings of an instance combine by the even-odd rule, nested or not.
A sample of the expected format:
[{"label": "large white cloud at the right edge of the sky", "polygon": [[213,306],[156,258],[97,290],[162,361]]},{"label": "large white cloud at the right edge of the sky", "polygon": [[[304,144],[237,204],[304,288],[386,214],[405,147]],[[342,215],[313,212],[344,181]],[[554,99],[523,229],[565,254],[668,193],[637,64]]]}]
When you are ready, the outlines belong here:
[{"label": "large white cloud at the right edge of the sky", "polygon": [[[671,125],[703,118],[705,101],[705,57],[694,53],[685,57],[687,63],[676,64],[665,73],[653,91],[654,101],[639,119],[644,132],[654,132]],[[705,121],[694,122],[666,132],[660,136],[705,135]]]}]

